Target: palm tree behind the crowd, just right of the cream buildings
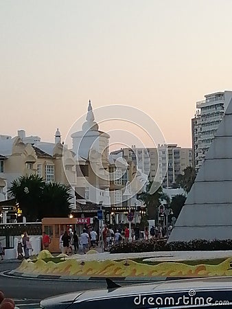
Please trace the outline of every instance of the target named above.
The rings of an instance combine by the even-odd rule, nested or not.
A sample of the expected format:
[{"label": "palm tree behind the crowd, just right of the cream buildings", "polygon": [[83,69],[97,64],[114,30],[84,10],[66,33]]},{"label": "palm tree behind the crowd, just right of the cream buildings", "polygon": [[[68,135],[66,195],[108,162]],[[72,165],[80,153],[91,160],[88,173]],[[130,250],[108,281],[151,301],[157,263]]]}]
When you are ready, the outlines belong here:
[{"label": "palm tree behind the crowd, just right of the cream buildings", "polygon": [[161,205],[161,201],[167,198],[163,193],[161,185],[156,183],[156,191],[153,194],[150,194],[150,189],[152,187],[152,182],[150,182],[146,187],[146,192],[138,194],[138,198],[143,201],[147,207],[148,219],[156,219],[158,217],[158,207]]}]

